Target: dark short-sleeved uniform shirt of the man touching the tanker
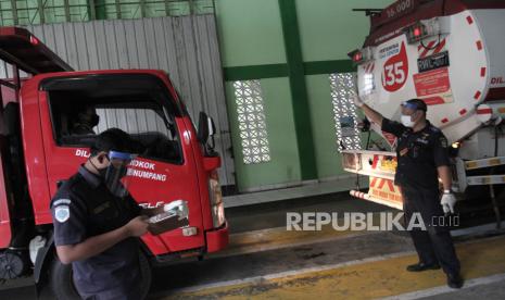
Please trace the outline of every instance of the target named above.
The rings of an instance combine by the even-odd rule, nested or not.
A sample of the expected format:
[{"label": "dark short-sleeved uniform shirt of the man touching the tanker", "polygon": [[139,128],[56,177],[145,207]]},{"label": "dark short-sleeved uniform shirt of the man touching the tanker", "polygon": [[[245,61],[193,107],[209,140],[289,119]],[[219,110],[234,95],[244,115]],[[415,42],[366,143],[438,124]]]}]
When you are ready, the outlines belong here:
[{"label": "dark short-sleeved uniform shirt of the man touching the tanker", "polygon": [[394,183],[397,186],[438,189],[437,167],[450,165],[447,139],[443,133],[427,121],[417,133],[397,122],[382,121],[382,130],[397,138],[397,168]]}]

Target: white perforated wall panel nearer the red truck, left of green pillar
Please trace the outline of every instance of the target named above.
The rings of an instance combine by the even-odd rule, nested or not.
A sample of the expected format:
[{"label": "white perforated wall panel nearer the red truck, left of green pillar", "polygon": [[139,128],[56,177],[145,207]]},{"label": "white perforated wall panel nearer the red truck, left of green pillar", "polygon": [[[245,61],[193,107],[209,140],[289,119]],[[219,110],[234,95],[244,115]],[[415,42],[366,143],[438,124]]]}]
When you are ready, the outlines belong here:
[{"label": "white perforated wall panel nearer the red truck, left of green pillar", "polygon": [[235,99],[244,164],[270,161],[260,80],[235,82]]}]

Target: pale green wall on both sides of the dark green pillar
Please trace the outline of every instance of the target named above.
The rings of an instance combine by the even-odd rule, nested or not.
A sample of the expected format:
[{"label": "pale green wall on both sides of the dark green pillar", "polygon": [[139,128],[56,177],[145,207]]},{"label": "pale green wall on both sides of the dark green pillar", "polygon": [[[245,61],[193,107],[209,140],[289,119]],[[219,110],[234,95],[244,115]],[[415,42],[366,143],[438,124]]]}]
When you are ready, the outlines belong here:
[{"label": "pale green wall on both sides of the dark green pillar", "polygon": [[[303,136],[296,137],[290,132],[294,130],[296,122],[293,117],[292,101],[299,100],[292,97],[292,92],[289,92],[287,80],[265,79],[273,77],[285,79],[289,76],[289,62],[285,53],[286,50],[292,49],[286,49],[283,43],[280,1],[216,0],[216,16],[226,79],[231,82],[258,78],[263,88],[268,90],[268,92],[265,90],[264,96],[265,101],[269,103],[265,109],[273,161],[257,165],[244,165],[241,161],[240,138],[238,133],[232,133],[240,190],[307,179],[300,171],[300,160],[304,157],[296,151],[298,139]],[[352,9],[380,9],[390,4],[392,0],[293,1],[296,7],[299,47],[305,63],[306,101],[308,102],[305,113],[311,120],[313,153],[316,160],[317,178],[314,179],[344,175],[337,150],[329,74],[354,70],[346,53],[359,48],[368,33],[368,17],[364,12],[353,12]],[[285,28],[285,32],[292,34],[290,29],[292,28]],[[275,98],[269,99],[273,96]],[[227,100],[231,103],[233,99],[233,89],[228,85]],[[272,101],[281,103],[281,105],[272,105]],[[233,107],[228,105],[228,108],[230,122],[235,123]],[[272,111],[276,108],[281,110],[281,113]],[[273,120],[276,122],[273,123]],[[237,128],[233,123],[231,128]],[[282,157],[278,157],[279,153]],[[287,170],[296,170],[296,172],[288,175]],[[254,176],[256,174],[261,174],[262,178]]]}]

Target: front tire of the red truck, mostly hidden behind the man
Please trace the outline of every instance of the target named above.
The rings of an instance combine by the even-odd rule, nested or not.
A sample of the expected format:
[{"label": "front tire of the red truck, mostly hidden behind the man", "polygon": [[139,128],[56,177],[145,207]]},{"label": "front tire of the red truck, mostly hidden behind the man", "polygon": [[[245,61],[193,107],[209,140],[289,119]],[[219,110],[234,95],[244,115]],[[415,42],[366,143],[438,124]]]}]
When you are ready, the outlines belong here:
[{"label": "front tire of the red truck, mostly hidden behind the man", "polygon": [[[140,262],[140,299],[146,299],[151,288],[152,273],[151,265],[143,252],[139,253]],[[72,278],[72,265],[63,264],[58,257],[51,262],[51,270],[49,273],[49,285],[58,300],[79,300],[80,296],[75,289],[74,280]]]}]

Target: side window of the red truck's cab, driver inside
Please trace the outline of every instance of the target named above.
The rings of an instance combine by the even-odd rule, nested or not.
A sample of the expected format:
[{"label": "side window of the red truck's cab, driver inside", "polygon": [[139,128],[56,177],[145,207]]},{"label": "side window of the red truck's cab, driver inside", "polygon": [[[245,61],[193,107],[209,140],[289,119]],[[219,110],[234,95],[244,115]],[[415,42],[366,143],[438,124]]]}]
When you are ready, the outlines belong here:
[{"label": "side window of the red truck's cab, driver inside", "polygon": [[90,147],[98,134],[119,128],[139,142],[141,157],[182,162],[175,113],[160,103],[163,97],[157,92],[49,90],[48,97],[53,135],[61,147]]}]

